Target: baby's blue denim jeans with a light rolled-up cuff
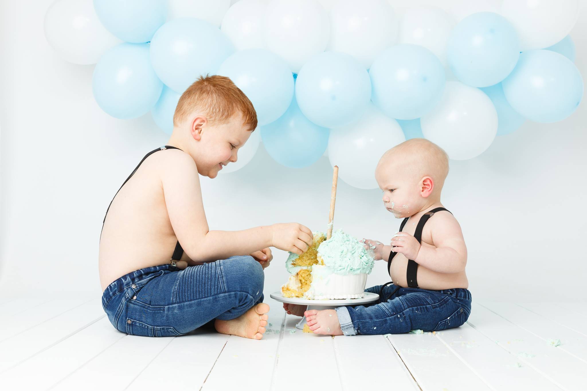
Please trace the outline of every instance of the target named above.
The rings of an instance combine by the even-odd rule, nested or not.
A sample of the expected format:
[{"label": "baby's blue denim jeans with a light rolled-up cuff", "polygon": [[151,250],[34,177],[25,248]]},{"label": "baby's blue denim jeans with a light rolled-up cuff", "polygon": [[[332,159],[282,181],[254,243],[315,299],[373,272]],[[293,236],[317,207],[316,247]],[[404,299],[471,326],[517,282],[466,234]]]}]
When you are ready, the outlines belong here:
[{"label": "baby's blue denim jeans with a light rolled-up cuff", "polygon": [[[365,291],[379,294],[381,287],[377,285]],[[471,314],[471,293],[467,289],[399,288],[385,301],[396,288],[397,285],[387,285],[379,300],[370,304],[336,308],[343,334],[438,331],[463,325]]]}]

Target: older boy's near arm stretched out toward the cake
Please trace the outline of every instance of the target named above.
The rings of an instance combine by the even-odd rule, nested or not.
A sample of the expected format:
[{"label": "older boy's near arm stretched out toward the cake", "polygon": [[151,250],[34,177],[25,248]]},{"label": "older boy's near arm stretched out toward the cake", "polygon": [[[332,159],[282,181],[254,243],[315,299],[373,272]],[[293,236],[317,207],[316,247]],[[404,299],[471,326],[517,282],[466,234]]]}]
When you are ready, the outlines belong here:
[{"label": "older boy's near arm stretched out toward the cake", "polygon": [[204,212],[197,167],[190,155],[168,151],[158,169],[171,226],[192,260],[227,259],[270,246],[302,254],[312,244],[311,230],[297,223],[242,231],[211,231]]}]

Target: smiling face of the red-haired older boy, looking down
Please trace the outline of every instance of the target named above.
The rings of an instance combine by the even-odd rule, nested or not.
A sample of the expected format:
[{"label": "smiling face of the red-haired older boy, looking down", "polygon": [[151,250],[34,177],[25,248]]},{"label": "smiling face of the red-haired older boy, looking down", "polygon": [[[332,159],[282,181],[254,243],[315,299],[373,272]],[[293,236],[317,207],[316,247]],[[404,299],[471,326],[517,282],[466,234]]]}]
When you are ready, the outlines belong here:
[{"label": "smiling face of the red-haired older boy, looking down", "polygon": [[223,166],[237,161],[238,149],[250,135],[251,131],[243,125],[241,114],[233,115],[226,124],[205,125],[198,142],[198,172],[216,178]]}]

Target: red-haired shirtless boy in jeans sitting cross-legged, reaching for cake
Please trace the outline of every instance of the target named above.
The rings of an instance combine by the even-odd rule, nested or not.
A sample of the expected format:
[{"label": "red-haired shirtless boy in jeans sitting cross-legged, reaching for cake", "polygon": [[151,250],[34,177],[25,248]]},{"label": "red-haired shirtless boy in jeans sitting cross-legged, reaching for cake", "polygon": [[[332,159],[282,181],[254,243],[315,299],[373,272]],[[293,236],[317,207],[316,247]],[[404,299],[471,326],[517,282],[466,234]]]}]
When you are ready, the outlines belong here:
[{"label": "red-haired shirtless boy in jeans sitting cross-legged, reaching for cake", "polygon": [[143,158],[106,211],[99,253],[104,311],[127,334],[183,335],[210,323],[224,334],[261,339],[269,247],[302,254],[312,232],[298,223],[208,228],[198,175],[215,178],[236,162],[257,127],[251,101],[230,79],[195,81],[173,123],[167,145]]}]

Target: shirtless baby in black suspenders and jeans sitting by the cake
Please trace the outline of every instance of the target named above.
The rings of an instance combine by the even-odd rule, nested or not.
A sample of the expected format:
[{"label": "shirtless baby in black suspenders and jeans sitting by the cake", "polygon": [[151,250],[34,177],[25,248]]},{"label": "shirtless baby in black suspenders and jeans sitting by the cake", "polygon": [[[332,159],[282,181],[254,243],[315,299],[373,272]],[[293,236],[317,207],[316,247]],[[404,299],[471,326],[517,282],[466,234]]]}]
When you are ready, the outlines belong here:
[{"label": "shirtless baby in black suspenders and jeans sitting by the cake", "polygon": [[467,247],[461,227],[440,202],[448,174],[446,153],[430,141],[414,138],[383,154],[375,178],[383,206],[403,219],[390,246],[375,247],[375,259],[387,261],[393,283],[366,291],[379,300],[335,310],[309,310],[284,304],[288,314],[305,316],[316,334],[401,334],[413,329],[438,331],[459,327],[471,313],[465,275]]}]

